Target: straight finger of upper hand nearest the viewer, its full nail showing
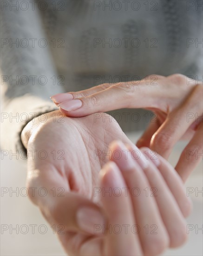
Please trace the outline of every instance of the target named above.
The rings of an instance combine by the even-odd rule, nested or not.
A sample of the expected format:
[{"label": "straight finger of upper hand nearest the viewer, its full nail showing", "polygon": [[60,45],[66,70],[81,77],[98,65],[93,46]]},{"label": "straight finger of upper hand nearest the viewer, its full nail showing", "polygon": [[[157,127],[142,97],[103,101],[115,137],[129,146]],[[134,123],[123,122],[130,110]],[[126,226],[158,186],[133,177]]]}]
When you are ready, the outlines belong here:
[{"label": "straight finger of upper hand nearest the viewer, its full nail showing", "polygon": [[[63,101],[59,104],[59,109],[65,115],[79,117],[119,108],[158,108],[160,94],[158,86],[121,83],[87,97]],[[147,101],[144,101],[146,97]]]}]

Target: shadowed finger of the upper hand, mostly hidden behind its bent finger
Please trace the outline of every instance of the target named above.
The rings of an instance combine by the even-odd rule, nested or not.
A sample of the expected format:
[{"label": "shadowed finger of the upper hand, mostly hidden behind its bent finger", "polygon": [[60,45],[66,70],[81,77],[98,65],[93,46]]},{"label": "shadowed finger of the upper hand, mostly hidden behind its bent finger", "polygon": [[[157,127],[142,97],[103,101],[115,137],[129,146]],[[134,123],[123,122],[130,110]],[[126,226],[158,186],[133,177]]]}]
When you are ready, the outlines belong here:
[{"label": "shadowed finger of the upper hand, mostly hidden behind its bent finger", "polygon": [[136,146],[138,148],[141,147],[150,147],[150,141],[153,134],[157,131],[159,128],[159,122],[156,118],[154,122],[151,122],[148,128],[144,131],[144,134],[140,137],[140,139],[137,141]]}]

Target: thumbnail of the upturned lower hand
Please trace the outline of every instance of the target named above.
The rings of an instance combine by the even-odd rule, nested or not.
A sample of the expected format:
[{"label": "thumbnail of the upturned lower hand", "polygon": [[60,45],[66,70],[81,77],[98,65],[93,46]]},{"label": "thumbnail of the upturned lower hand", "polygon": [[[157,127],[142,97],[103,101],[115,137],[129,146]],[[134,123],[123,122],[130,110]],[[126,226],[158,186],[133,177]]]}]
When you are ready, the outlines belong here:
[{"label": "thumbnail of the upturned lower hand", "polygon": [[103,225],[105,225],[105,219],[102,214],[92,208],[81,208],[76,214],[79,227],[91,234],[101,234],[103,232]]}]

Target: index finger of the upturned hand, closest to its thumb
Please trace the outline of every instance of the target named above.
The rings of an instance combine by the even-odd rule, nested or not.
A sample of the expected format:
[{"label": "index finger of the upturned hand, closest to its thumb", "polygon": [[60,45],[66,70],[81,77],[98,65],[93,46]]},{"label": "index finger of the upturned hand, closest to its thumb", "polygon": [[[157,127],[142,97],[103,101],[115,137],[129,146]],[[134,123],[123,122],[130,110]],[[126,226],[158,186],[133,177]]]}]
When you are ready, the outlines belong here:
[{"label": "index finger of the upturned hand, closest to its thumb", "polygon": [[[107,163],[102,169],[100,186],[103,191],[126,188],[120,170],[114,162]],[[101,196],[108,219],[108,225],[104,230],[107,233],[104,241],[104,255],[143,255],[138,235],[131,232],[131,227],[135,225],[131,200],[129,196],[124,195],[124,191],[122,192],[120,196],[116,196],[115,193],[105,193],[104,196]],[[126,225],[129,227],[127,230]]]}]

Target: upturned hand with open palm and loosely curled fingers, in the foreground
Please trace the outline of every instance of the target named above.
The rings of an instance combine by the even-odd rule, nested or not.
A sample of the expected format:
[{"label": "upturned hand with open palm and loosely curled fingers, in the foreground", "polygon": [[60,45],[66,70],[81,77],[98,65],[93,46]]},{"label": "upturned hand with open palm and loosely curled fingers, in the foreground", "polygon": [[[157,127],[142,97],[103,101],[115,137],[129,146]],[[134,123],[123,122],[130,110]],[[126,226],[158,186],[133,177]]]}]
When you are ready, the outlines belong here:
[{"label": "upturned hand with open palm and loosely curled fingers, in the foreground", "polygon": [[[30,191],[30,199],[38,205],[46,220],[55,224],[59,240],[69,255],[157,255],[168,246],[177,247],[186,241],[185,217],[190,213],[191,204],[185,195],[183,181],[164,158],[157,155],[158,165],[150,158],[145,159],[145,167],[141,158],[125,159],[122,150],[139,149],[115,120],[103,119],[102,113],[97,121],[94,115],[72,118],[60,111],[46,115],[46,122],[35,118],[21,134],[29,154],[26,186],[47,189],[46,196]],[[109,152],[109,149],[109,156],[103,159],[101,154],[95,158],[94,150]],[[37,150],[35,157],[30,154],[31,150]],[[40,150],[46,151],[45,159],[42,155],[39,157]],[[51,153],[53,150],[55,157]],[[58,154],[59,150],[64,155],[61,156],[61,151]],[[120,159],[113,154],[116,150],[122,152]],[[93,193],[95,187],[106,191],[116,187],[138,187],[142,193],[137,197],[131,193],[125,196],[123,191],[119,197],[107,193],[97,198]],[[151,187],[157,188],[157,197],[145,195],[144,189]],[[55,188],[55,196],[52,188]],[[61,192],[61,188],[63,196],[57,192]],[[122,229],[119,234],[108,231],[103,234],[93,232],[93,227],[81,228],[77,216],[84,208],[97,211],[106,227],[138,224],[140,232],[126,234]],[[147,234],[143,228],[146,224],[156,225],[157,234]],[[64,234],[61,234],[61,226]]]}]

